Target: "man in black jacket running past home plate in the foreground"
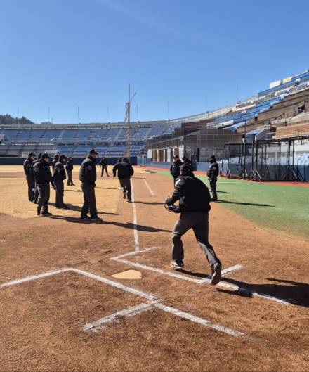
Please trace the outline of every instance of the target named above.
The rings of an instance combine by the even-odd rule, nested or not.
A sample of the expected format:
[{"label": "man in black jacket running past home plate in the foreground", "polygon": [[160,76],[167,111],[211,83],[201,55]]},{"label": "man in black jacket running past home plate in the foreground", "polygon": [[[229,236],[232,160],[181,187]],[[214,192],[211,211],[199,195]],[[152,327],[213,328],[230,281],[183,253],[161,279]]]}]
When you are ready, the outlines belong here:
[{"label": "man in black jacket running past home plate in the foreground", "polygon": [[171,267],[181,269],[183,263],[183,242],[181,237],[193,229],[197,243],[202,248],[211,267],[211,284],[221,280],[221,262],[209,243],[209,210],[210,194],[207,186],[197,177],[190,176],[190,166],[180,168],[180,177],[176,180],[175,191],[166,204],[171,206],[179,200],[180,219],[173,228],[173,251]]}]

